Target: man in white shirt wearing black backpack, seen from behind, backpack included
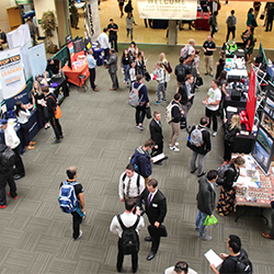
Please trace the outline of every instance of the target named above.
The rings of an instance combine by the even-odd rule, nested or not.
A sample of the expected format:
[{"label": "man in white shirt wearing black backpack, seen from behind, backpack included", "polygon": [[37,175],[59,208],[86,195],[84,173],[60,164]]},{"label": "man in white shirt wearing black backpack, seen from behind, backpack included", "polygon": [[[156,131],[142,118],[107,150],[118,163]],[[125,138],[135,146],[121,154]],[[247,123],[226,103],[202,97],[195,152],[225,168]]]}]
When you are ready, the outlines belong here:
[{"label": "man in white shirt wearing black backpack, seen from behind, backpack included", "polygon": [[145,227],[141,216],[135,215],[136,201],[129,198],[125,203],[126,210],[113,217],[110,230],[114,235],[118,235],[118,255],[116,269],[122,272],[124,255],[132,255],[133,273],[138,270],[138,252],[139,252],[139,230]]}]

